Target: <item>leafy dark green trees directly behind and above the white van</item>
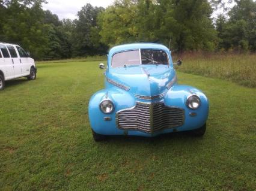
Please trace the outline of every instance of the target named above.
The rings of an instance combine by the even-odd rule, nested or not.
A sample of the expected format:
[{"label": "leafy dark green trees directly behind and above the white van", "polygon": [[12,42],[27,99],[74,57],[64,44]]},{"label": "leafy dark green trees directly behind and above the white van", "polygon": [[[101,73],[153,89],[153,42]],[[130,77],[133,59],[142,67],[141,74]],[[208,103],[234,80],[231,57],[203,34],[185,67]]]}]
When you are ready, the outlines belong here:
[{"label": "leafy dark green trees directly behind and above the white van", "polygon": [[[44,1],[4,1],[1,9],[1,38],[3,41],[23,46],[36,59],[43,57],[47,49],[46,26],[43,23]],[[40,45],[40,46],[38,46]]]}]

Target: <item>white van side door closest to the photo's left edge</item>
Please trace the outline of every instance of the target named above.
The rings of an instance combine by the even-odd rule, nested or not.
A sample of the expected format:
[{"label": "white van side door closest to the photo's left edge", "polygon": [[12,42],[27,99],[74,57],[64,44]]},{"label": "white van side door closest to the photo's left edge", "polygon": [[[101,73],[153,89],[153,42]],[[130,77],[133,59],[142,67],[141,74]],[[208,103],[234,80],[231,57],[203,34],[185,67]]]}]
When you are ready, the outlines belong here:
[{"label": "white van side door closest to the photo's left edge", "polygon": [[10,80],[11,78],[14,78],[14,65],[11,61],[7,47],[4,44],[0,44],[0,49],[3,57],[2,62],[0,63],[0,68],[4,72],[5,80]]}]

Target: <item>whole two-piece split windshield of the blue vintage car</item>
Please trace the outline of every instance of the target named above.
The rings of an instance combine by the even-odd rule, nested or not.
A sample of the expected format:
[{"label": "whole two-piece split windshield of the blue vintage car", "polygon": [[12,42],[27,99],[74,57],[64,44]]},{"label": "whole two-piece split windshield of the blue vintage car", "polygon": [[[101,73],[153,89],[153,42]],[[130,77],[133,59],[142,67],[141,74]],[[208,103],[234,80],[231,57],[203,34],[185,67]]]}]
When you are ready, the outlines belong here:
[{"label": "whole two-piece split windshield of the blue vintage car", "polygon": [[168,54],[163,50],[141,49],[129,50],[114,54],[112,67],[129,65],[162,64],[168,65]]}]

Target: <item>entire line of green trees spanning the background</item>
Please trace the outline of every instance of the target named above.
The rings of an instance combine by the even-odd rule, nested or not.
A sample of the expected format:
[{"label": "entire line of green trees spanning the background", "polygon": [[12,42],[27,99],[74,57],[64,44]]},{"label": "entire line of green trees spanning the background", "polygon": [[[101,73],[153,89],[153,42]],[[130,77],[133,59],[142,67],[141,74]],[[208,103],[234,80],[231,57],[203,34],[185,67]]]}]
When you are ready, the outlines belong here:
[{"label": "entire line of green trees spanning the background", "polygon": [[[228,16],[211,18],[221,1],[119,0],[108,8],[86,4],[78,19],[59,20],[45,0],[0,0],[0,41],[20,44],[35,59],[105,54],[134,42],[173,51],[255,51],[256,2],[236,1]],[[61,6],[61,5],[60,5]]]}]

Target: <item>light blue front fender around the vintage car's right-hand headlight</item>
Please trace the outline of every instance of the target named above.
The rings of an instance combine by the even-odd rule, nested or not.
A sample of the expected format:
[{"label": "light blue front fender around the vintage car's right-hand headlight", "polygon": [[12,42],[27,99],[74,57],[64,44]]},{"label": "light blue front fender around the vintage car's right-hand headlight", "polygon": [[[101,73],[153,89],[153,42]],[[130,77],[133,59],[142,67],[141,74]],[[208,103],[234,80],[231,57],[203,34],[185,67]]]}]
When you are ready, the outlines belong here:
[{"label": "light blue front fender around the vintage car's right-hand headlight", "polygon": [[[196,110],[191,110],[186,106],[186,99],[189,95],[198,95],[201,99],[201,105]],[[191,86],[175,84],[166,93],[164,102],[165,105],[171,107],[183,108],[184,125],[179,128],[179,131],[198,129],[206,123],[209,115],[209,101],[201,90]]]}]

